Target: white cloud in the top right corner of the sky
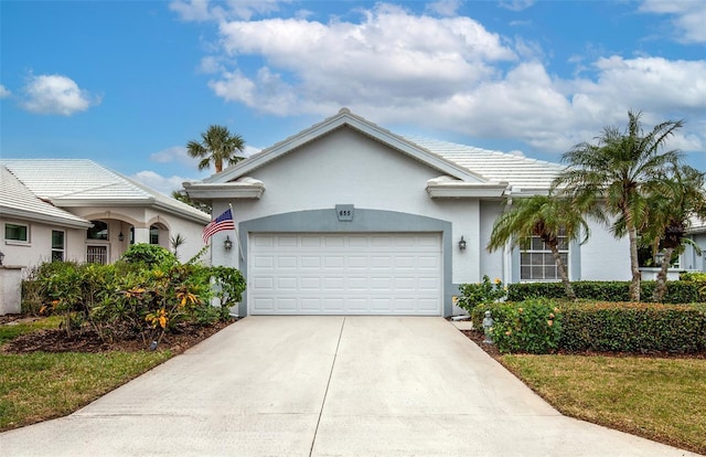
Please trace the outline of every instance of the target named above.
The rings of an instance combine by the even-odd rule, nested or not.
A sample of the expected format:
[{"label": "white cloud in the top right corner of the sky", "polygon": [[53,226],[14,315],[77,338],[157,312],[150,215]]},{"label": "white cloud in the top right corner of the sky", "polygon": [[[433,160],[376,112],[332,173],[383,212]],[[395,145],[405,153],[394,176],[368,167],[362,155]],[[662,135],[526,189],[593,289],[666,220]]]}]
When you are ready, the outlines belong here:
[{"label": "white cloud in the top right corner of the sky", "polygon": [[706,43],[706,2],[700,0],[645,0],[640,11],[670,14],[678,34],[686,43]]}]

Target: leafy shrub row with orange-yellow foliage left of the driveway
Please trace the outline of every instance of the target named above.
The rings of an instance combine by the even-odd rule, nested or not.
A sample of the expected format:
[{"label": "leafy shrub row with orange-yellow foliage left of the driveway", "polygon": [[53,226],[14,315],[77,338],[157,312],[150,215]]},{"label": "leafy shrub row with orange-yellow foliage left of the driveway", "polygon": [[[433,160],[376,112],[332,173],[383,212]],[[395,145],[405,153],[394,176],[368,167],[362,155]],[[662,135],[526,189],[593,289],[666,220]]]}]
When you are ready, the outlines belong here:
[{"label": "leafy shrub row with orange-yellow foliage left of the driveway", "polygon": [[[24,289],[32,291],[25,310],[62,316],[68,334],[90,329],[104,341],[141,337],[149,342],[181,322],[226,320],[245,280],[235,268],[182,265],[164,248],[136,245],[111,265],[42,264]],[[212,299],[221,307],[212,307]]]}]

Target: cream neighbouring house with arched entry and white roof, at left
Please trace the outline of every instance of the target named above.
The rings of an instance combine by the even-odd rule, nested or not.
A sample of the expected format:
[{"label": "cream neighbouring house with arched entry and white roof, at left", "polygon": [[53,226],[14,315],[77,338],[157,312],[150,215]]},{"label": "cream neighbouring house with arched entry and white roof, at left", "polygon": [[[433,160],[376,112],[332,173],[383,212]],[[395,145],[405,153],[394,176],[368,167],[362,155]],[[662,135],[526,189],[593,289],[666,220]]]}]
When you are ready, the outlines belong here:
[{"label": "cream neighbouring house with arched entry and white roof, at left", "polygon": [[111,263],[133,243],[171,251],[182,261],[202,247],[211,216],[90,160],[2,159],[0,227],[4,264],[51,259]]}]

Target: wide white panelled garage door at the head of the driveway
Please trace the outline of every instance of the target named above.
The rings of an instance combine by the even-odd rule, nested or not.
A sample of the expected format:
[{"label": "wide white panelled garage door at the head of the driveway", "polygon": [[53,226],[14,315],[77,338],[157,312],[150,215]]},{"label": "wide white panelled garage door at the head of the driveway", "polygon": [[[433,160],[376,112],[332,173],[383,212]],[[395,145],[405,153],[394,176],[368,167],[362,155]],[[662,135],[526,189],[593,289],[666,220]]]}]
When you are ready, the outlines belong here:
[{"label": "wide white panelled garage door at the head of the driveway", "polygon": [[252,234],[252,315],[441,316],[441,235]]}]

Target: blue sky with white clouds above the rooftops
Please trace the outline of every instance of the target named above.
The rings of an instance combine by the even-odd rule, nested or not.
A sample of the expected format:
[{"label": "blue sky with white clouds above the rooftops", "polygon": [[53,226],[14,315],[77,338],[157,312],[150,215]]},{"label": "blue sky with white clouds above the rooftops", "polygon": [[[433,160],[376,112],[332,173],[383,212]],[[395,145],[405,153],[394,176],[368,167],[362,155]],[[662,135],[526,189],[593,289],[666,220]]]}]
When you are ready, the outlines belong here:
[{"label": "blue sky with white clouds above the rooftops", "polygon": [[169,193],[212,124],[252,153],[345,106],[559,161],[641,110],[706,170],[706,1],[0,1],[0,157]]}]

